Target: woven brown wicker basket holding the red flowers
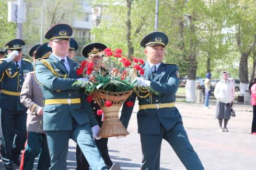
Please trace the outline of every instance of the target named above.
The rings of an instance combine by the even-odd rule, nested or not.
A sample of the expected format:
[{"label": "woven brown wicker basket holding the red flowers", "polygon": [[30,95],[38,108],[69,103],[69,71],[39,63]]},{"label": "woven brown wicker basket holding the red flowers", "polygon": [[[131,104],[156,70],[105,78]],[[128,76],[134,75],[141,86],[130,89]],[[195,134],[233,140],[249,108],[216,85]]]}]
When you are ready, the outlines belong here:
[{"label": "woven brown wicker basket holding the red flowers", "polygon": [[[99,136],[108,138],[119,135],[129,135],[122,122],[119,120],[119,110],[124,101],[133,93],[133,90],[123,92],[112,92],[97,89],[91,93],[92,98],[97,102],[104,112],[104,122],[102,123]],[[104,107],[106,100],[110,100],[113,105]]]}]

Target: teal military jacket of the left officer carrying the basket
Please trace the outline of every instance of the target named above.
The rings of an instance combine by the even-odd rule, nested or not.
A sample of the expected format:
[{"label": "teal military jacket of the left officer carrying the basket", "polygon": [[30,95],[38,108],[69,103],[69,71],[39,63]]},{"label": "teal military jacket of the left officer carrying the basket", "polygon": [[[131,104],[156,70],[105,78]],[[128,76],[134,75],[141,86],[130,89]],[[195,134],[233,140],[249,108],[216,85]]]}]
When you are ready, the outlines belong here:
[{"label": "teal military jacket of the left officer carrying the basket", "polygon": [[[51,70],[43,64],[50,64]],[[47,104],[43,107],[43,130],[72,130],[72,119],[79,125],[90,123],[97,125],[90,104],[86,100],[85,91],[73,84],[80,78],[76,74],[79,63],[67,57],[69,72],[54,56],[36,63],[36,78],[42,85],[43,99],[80,98],[81,103]],[[66,76],[65,76],[66,75]]]}]

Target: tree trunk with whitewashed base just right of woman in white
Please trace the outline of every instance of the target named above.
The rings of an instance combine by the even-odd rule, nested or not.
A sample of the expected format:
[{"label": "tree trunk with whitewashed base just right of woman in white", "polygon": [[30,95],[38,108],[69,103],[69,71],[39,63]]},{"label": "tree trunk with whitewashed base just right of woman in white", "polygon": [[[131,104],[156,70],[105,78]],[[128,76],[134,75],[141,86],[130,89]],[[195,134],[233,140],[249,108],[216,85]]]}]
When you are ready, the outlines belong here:
[{"label": "tree trunk with whitewashed base just right of woman in white", "polygon": [[248,56],[249,53],[241,53],[239,64],[240,94],[244,95],[248,86]]}]

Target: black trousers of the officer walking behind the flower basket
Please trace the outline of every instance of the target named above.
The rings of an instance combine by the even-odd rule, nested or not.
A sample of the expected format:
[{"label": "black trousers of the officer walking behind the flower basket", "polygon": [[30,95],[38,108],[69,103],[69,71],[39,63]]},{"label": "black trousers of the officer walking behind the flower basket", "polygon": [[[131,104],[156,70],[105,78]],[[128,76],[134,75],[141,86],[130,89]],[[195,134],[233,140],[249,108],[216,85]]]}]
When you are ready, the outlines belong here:
[{"label": "black trousers of the officer walking behind the flower basket", "polygon": [[[113,165],[110,157],[109,157],[109,150],[108,150],[108,138],[101,138],[99,140],[95,140],[97,147],[100,150],[102,158],[105,164],[108,167]],[[81,151],[78,145],[76,145],[76,163],[77,167],[76,170],[89,170],[89,164],[85,158],[85,155]]]}]

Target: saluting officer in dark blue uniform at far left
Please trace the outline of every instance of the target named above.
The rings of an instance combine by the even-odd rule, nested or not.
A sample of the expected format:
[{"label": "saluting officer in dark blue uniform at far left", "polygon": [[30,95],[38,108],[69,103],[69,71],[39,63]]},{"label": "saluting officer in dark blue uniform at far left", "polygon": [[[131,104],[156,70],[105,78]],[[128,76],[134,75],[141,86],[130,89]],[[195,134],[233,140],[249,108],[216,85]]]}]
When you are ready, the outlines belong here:
[{"label": "saluting officer in dark blue uniform at far left", "polygon": [[[31,71],[31,61],[22,59],[20,39],[11,40],[8,46],[8,57],[0,61],[1,122],[2,122],[2,160],[6,169],[13,169],[13,163],[19,165],[20,151],[26,141],[27,108],[20,103],[20,91],[28,72]],[[15,142],[14,142],[15,140]]]}]

